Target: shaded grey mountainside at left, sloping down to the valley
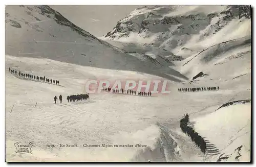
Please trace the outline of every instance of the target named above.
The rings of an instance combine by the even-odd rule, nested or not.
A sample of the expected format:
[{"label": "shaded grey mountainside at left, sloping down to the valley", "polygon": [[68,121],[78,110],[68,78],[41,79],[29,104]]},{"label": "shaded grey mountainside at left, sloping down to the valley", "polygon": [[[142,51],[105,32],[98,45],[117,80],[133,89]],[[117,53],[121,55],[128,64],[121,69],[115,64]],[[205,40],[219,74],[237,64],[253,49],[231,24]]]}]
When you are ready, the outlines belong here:
[{"label": "shaded grey mountainside at left, sloping down to the valley", "polygon": [[[6,54],[48,58],[84,66],[134,70],[172,79],[151,61],[142,62],[75,26],[49,6],[6,7]],[[179,74],[173,69],[164,73]],[[179,82],[178,79],[173,80]]]}]

